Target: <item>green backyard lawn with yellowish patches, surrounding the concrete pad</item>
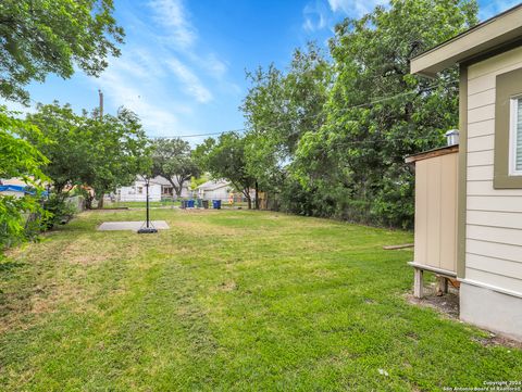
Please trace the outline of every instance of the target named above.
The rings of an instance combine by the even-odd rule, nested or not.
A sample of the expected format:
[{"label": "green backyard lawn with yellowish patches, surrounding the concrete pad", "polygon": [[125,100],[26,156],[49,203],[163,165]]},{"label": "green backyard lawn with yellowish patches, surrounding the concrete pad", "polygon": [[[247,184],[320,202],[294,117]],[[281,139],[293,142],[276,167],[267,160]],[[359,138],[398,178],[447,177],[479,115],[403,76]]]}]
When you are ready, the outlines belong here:
[{"label": "green backyard lawn with yellowish patches, surrounding the concrete pad", "polygon": [[411,233],[247,211],[90,212],[0,264],[0,390],[433,391],[522,352],[408,303]]}]

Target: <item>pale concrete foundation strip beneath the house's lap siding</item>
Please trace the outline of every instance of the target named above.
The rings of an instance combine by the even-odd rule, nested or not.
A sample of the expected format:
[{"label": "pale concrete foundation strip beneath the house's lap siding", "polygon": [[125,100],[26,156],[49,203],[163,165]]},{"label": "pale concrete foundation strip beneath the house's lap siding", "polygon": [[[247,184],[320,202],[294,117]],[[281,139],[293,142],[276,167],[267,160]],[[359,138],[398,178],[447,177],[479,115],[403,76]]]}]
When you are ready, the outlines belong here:
[{"label": "pale concrete foundation strip beneath the house's lap siding", "polygon": [[522,341],[522,298],[493,288],[460,286],[460,318],[477,327]]}]

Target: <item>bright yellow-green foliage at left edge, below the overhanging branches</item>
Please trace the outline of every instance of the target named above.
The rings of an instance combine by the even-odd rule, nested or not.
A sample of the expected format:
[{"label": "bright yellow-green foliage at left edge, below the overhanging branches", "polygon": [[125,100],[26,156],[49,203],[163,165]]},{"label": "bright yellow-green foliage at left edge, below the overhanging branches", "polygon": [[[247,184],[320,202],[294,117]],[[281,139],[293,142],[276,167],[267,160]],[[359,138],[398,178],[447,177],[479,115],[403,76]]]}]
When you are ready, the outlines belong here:
[{"label": "bright yellow-green foliage at left edge, below the overhanging branches", "polygon": [[[41,138],[36,127],[13,118],[5,108],[0,106],[0,178],[21,177],[35,192],[39,192],[46,180],[40,166],[48,160],[21,137],[29,132],[35,138]],[[26,236],[24,213],[42,213],[37,198],[29,194],[23,198],[0,195],[0,249]]]}]

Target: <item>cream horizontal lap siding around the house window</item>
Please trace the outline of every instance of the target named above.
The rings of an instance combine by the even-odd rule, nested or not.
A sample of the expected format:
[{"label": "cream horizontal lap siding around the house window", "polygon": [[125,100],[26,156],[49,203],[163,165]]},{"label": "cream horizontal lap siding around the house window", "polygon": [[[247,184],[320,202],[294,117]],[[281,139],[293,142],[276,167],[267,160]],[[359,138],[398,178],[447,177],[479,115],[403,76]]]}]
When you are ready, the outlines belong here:
[{"label": "cream horizontal lap siding around the house window", "polygon": [[468,69],[465,278],[522,293],[522,189],[493,188],[496,76],[520,67],[522,48]]}]

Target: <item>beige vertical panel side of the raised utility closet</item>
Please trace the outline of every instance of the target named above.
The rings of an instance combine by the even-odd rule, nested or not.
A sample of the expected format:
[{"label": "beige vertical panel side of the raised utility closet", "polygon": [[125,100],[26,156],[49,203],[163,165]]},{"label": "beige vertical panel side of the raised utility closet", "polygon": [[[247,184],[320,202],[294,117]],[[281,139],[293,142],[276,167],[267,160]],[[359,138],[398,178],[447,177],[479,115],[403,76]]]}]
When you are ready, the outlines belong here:
[{"label": "beige vertical panel side of the raised utility closet", "polygon": [[418,264],[456,271],[458,154],[415,163],[415,248]]}]

